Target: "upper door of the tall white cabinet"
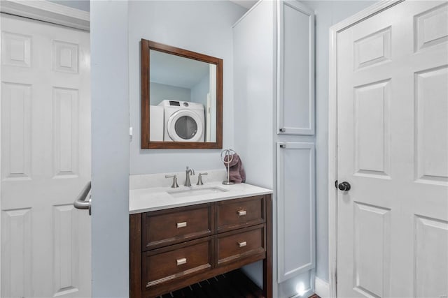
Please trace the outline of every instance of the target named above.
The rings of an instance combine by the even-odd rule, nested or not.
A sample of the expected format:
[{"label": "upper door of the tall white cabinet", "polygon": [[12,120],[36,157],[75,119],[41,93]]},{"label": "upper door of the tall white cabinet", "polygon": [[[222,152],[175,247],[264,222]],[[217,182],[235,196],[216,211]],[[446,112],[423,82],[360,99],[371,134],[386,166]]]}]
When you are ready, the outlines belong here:
[{"label": "upper door of the tall white cabinet", "polygon": [[277,133],[314,135],[314,14],[279,1],[277,30]]}]

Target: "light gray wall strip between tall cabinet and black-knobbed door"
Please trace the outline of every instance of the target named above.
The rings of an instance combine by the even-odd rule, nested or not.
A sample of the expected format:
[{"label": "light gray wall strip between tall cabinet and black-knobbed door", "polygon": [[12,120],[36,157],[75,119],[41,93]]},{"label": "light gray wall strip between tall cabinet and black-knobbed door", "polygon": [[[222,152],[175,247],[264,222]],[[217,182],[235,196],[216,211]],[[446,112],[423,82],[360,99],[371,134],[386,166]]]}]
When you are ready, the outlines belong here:
[{"label": "light gray wall strip between tall cabinet and black-knobbed door", "polygon": [[301,2],[316,13],[316,276],[328,281],[329,29],[376,1]]}]

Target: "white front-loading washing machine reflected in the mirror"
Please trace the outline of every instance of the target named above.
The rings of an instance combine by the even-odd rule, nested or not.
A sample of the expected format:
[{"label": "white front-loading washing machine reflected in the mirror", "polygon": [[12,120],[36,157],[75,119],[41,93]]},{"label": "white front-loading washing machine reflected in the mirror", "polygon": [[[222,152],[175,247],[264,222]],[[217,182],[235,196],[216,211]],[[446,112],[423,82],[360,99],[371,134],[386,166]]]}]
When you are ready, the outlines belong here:
[{"label": "white front-loading washing machine reflected in the mirror", "polygon": [[165,110],[165,142],[204,142],[204,105],[180,100],[162,100],[159,105]]}]

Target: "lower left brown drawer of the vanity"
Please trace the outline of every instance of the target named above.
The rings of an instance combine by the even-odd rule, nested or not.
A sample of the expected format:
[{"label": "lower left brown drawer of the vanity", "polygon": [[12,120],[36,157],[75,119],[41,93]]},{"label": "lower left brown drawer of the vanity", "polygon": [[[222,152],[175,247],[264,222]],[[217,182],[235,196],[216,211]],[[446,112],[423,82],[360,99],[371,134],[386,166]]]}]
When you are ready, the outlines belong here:
[{"label": "lower left brown drawer of the vanity", "polygon": [[147,251],[142,258],[144,286],[151,288],[211,268],[211,237]]}]

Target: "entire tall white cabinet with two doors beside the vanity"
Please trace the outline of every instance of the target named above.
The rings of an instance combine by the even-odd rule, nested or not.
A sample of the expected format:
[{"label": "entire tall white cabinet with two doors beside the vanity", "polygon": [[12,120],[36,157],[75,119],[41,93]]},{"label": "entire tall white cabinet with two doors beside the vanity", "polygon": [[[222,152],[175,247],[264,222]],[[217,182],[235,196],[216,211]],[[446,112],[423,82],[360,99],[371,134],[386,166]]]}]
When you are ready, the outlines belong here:
[{"label": "entire tall white cabinet with two doors beside the vanity", "polygon": [[309,295],[316,264],[311,10],[262,0],[241,17],[234,90],[235,149],[247,182],[274,189],[274,297]]}]

